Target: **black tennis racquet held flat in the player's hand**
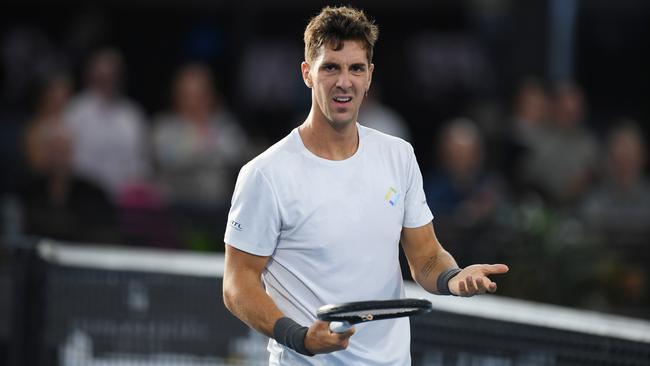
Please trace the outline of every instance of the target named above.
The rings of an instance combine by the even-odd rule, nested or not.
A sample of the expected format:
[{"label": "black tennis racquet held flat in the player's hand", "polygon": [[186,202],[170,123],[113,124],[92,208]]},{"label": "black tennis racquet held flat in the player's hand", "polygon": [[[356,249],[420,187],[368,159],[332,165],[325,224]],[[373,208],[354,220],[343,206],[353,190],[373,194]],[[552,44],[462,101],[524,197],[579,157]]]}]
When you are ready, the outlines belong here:
[{"label": "black tennis racquet held flat in the player's hand", "polygon": [[329,321],[332,332],[342,333],[354,324],[420,315],[430,311],[431,302],[428,300],[376,300],[321,306],[316,317],[323,321]]}]

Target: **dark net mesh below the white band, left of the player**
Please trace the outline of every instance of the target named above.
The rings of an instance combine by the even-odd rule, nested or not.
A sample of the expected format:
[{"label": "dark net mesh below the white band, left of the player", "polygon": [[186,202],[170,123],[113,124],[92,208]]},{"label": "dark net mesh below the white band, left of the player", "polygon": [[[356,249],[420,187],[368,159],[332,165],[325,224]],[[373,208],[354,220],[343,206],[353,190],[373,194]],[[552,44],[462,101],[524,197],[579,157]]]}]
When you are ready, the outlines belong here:
[{"label": "dark net mesh below the white band, left of the player", "polygon": [[220,365],[248,335],[219,278],[45,266],[41,365]]}]

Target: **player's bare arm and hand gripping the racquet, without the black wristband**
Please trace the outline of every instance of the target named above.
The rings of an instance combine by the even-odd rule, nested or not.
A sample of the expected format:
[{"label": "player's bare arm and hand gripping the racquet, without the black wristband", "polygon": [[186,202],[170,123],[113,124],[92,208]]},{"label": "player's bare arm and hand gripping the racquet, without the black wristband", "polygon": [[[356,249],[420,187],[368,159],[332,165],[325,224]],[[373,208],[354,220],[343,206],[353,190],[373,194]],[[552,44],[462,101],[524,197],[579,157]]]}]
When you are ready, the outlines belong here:
[{"label": "player's bare arm and hand gripping the racquet, without the black wristband", "polygon": [[[262,272],[269,257],[256,256],[226,244],[223,299],[226,308],[258,332],[274,338],[276,322],[285,317],[264,291]],[[332,333],[329,323],[317,320],[307,330],[305,347],[313,353],[329,353],[347,348],[354,328]]]}]

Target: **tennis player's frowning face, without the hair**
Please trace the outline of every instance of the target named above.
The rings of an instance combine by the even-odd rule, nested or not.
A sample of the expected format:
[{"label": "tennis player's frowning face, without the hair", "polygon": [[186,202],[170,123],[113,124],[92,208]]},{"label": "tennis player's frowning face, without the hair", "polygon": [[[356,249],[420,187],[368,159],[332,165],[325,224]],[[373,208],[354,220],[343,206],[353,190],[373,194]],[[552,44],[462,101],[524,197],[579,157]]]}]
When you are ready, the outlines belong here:
[{"label": "tennis player's frowning face, without the hair", "polygon": [[344,41],[338,51],[323,45],[311,64],[303,62],[301,68],[317,113],[335,128],[357,121],[374,69],[361,42]]}]

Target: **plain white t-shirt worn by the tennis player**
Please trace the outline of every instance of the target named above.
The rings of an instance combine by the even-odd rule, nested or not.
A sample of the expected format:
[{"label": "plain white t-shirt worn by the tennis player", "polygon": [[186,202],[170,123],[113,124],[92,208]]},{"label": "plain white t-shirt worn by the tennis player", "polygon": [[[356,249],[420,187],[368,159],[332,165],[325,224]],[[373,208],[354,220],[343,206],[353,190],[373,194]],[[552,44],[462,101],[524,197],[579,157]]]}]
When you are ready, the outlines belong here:
[{"label": "plain white t-shirt worn by the tennis player", "polygon": [[[402,227],[433,215],[413,148],[357,124],[346,160],[319,158],[298,129],[246,164],[232,198],[225,242],[271,256],[262,274],[280,310],[309,326],[325,304],[404,297]],[[306,357],[271,339],[270,363],[408,365],[408,318],[359,324],[344,351]]]}]

